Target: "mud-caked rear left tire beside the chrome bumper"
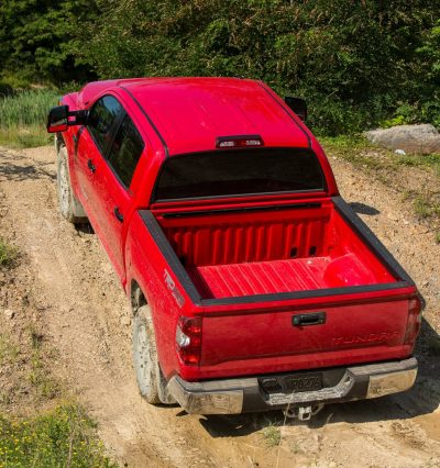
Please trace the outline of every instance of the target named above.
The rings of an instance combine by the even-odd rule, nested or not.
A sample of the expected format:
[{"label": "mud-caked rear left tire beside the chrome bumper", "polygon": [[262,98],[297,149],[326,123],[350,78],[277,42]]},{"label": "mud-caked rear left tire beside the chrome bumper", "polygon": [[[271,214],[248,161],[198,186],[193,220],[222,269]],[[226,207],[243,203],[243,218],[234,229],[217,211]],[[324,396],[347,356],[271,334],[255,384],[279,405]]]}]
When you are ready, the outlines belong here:
[{"label": "mud-caked rear left tire beside the chrome bumper", "polygon": [[162,403],[160,398],[161,370],[156,338],[150,305],[142,305],[133,317],[133,365],[139,390],[151,404]]}]

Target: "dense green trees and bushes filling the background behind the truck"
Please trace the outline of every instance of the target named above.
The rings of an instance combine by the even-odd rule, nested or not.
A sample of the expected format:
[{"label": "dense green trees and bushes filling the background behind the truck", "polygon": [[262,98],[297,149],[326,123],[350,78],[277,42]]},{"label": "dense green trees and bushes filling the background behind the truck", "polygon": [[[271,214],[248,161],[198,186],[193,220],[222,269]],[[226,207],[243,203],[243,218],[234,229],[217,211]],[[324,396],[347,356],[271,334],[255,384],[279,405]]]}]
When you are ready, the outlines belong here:
[{"label": "dense green trees and bushes filling the background behind the truck", "polygon": [[309,101],[338,135],[440,126],[440,3],[431,0],[6,0],[3,75],[61,85],[243,76]]}]

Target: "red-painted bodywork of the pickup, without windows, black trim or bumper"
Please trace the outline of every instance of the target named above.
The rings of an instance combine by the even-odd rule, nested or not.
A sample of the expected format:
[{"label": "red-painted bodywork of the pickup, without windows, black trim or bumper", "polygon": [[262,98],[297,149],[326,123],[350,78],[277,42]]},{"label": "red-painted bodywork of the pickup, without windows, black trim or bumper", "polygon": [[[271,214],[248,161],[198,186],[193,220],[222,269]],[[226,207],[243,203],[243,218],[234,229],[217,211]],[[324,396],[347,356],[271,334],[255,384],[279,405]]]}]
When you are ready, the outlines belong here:
[{"label": "red-painted bodywork of the pickup, without windows, black trim or bumper", "polygon": [[[103,94],[116,97],[123,105],[141,133],[144,151],[132,182],[125,188],[98,151],[87,126],[69,126],[63,138],[73,189],[129,297],[138,283],[152,307],[158,357],[166,378],[175,374],[187,380],[227,378],[411,355],[419,321],[419,303],[414,299],[417,289],[410,283],[394,289],[397,278],[336,211],[331,197],[338,194],[338,188],[322,148],[270,88],[232,78],[110,80],[67,94],[63,103],[72,111],[91,109]],[[167,154],[176,157],[229,151],[216,148],[217,138],[233,135],[260,135],[265,147],[310,145],[323,169],[327,191],[150,205]],[[89,159],[95,172],[88,169]],[[165,216],[183,211],[282,208],[306,202],[320,207]],[[122,223],[113,215],[114,207],[123,215]],[[349,286],[389,288],[197,304],[146,229],[140,209],[152,210],[202,299]],[[294,314],[317,311],[326,312],[324,324],[293,326]],[[195,336],[195,347],[187,349],[187,355],[176,346],[178,323]],[[188,325],[195,323],[195,328]]]}]

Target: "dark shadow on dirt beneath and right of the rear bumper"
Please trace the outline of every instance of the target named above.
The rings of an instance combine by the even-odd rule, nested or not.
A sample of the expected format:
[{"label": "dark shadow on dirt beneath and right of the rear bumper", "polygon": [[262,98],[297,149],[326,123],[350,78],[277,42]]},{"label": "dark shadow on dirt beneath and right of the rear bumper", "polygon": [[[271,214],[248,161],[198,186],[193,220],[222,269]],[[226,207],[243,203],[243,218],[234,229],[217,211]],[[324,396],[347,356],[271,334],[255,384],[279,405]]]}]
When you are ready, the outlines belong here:
[{"label": "dark shadow on dirt beneath and right of the rear bumper", "polygon": [[406,420],[430,414],[440,404],[440,337],[424,319],[415,355],[419,374],[411,390],[374,400],[329,404],[309,422],[285,419],[280,411],[238,415],[209,415],[200,424],[212,437],[244,436],[270,425],[307,424],[310,428],[332,423]]}]

